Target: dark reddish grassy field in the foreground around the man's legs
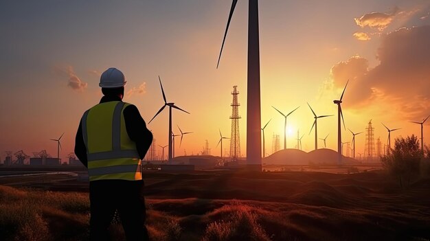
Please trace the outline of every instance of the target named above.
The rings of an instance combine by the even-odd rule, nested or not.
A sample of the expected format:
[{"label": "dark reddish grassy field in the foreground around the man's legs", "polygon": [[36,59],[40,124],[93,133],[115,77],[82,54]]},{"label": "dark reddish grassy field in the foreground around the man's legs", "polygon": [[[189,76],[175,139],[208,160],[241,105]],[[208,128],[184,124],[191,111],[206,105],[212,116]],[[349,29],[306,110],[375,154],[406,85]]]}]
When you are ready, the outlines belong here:
[{"label": "dark reddish grassy field in the foreground around the man's legs", "polygon": [[[430,179],[383,172],[145,175],[152,240],[430,240]],[[87,192],[0,186],[0,240],[87,240]],[[123,240],[113,220],[114,240]]]}]

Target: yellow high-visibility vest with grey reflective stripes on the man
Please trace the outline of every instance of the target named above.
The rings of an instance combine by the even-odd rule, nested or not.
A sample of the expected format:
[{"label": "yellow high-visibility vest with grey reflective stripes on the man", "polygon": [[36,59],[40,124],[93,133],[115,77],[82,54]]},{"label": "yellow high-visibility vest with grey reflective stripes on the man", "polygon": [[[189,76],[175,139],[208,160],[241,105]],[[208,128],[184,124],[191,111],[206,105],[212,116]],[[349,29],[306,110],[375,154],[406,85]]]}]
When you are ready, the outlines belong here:
[{"label": "yellow high-visibility vest with grey reflective stripes on the man", "polygon": [[124,121],[123,111],[128,105],[120,101],[104,102],[82,116],[89,181],[142,180],[139,153],[128,137]]}]

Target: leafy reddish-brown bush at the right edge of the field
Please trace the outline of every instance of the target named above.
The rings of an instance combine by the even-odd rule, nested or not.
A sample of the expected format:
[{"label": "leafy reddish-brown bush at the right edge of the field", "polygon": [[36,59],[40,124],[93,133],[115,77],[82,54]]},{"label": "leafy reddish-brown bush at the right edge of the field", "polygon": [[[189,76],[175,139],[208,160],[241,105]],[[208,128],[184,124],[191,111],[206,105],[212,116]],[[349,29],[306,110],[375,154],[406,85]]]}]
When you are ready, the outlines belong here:
[{"label": "leafy reddish-brown bush at the right edge of the field", "polygon": [[[411,137],[396,138],[394,149],[382,157],[381,162],[389,174],[398,177],[399,185],[403,187],[403,185],[409,185],[411,178],[420,172],[421,158],[418,138],[411,135]],[[407,183],[403,183],[405,179]]]}]

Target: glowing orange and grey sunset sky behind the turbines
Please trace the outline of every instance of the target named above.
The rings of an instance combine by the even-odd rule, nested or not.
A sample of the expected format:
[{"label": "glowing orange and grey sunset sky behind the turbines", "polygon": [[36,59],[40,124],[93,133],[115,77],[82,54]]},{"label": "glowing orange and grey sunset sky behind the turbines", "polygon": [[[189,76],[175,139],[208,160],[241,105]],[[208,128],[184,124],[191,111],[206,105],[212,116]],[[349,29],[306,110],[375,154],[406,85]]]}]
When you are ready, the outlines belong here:
[{"label": "glowing orange and grey sunset sky behind the turbines", "polygon": [[[246,153],[247,1],[236,6],[220,67],[216,62],[231,0],[202,1],[1,1],[0,2],[0,157],[5,150],[32,155],[46,149],[56,157],[56,139],[64,132],[60,157],[73,152],[82,113],[102,96],[100,74],[117,67],[126,76],[125,102],[135,104],[155,136],[168,144],[168,102],[190,112],[173,111],[184,132],[176,155],[198,154],[207,139],[211,154],[219,133],[231,130],[231,91],[241,104],[240,145]],[[261,0],[260,65],[262,124],[266,150],[273,133],[295,148],[297,129],[305,151],[314,149],[309,134],[313,114],[319,137],[337,150],[337,100],[343,97],[346,128],[365,131],[372,119],[375,137],[420,135],[430,115],[430,1],[284,1]],[[430,144],[430,118],[425,143]],[[343,128],[342,128],[343,130]],[[348,129],[343,141],[351,141]],[[177,139],[179,140],[179,139]],[[356,137],[357,156],[365,134]],[[324,146],[319,142],[319,147]],[[223,142],[229,148],[229,141]],[[161,150],[161,148],[159,148]],[[166,149],[167,153],[167,149]]]}]

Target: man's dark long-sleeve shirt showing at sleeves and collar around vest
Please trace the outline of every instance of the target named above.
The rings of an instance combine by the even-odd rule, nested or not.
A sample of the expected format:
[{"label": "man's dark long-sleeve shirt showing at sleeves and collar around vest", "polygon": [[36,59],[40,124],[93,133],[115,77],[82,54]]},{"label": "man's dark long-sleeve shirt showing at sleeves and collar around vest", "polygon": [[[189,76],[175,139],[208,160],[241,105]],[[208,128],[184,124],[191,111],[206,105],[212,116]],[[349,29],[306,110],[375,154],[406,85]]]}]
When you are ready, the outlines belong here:
[{"label": "man's dark long-sleeve shirt showing at sleeves and collar around vest", "polygon": [[[118,96],[103,96],[100,103],[122,101]],[[152,143],[152,133],[146,128],[146,123],[133,104],[124,108],[124,120],[128,137],[136,143],[136,149],[139,153],[140,159],[144,159],[146,152]],[[87,163],[87,147],[84,144],[84,137],[82,135],[82,123],[79,122],[78,132],[75,139],[75,154],[76,157],[88,167]]]}]

